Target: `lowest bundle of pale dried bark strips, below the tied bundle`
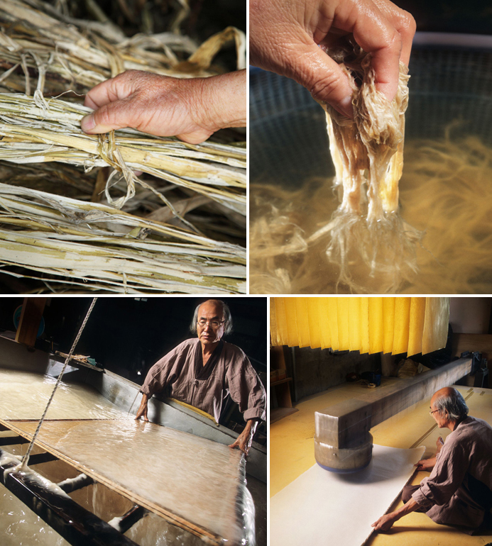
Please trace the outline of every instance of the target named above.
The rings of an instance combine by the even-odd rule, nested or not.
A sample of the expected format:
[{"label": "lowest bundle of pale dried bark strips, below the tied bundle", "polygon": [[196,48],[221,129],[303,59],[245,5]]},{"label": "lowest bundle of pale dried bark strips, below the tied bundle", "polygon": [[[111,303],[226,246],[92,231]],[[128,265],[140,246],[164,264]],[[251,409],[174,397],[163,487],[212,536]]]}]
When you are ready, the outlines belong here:
[{"label": "lowest bundle of pale dried bark strips, below the tied bundle", "polygon": [[246,291],[242,247],[22,186],[0,184],[0,251],[0,271],[42,280],[39,291]]}]

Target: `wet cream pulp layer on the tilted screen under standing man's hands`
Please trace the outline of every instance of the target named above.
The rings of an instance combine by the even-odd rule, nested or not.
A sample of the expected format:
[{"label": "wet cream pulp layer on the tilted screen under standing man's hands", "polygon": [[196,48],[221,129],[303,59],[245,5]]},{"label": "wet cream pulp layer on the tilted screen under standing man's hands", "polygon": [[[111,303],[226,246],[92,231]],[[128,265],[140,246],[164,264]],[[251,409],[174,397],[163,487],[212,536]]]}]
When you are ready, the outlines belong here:
[{"label": "wet cream pulp layer on the tilted screen under standing man's hands", "polygon": [[[54,384],[48,376],[0,370],[0,419],[32,437]],[[161,515],[238,540],[239,450],[135,421],[89,386],[64,383],[37,443]]]}]

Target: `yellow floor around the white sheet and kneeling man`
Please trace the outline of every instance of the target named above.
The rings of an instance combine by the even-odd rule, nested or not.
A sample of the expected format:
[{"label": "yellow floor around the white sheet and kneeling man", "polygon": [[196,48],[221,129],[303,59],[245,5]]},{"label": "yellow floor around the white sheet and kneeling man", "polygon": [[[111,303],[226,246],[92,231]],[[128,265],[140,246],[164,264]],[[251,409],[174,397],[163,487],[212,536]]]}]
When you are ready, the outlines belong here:
[{"label": "yellow floor around the white sheet and kneeling man", "polygon": [[[386,379],[390,384],[396,379]],[[492,390],[457,387],[466,399],[470,415],[492,423]],[[315,464],[314,436],[316,410],[350,398],[363,398],[367,388],[360,384],[343,384],[297,404],[299,409],[270,425],[270,496],[275,495]],[[371,429],[374,443],[410,448],[425,445],[424,457],[435,452],[435,442],[446,431],[437,428],[429,416],[429,401],[422,401]],[[449,431],[447,431],[449,433]],[[417,472],[410,483],[418,484],[428,472]],[[401,506],[397,501],[392,509]],[[381,514],[382,515],[382,514]],[[411,513],[398,520],[388,533],[373,534],[366,542],[371,546],[483,546],[492,542],[489,535],[469,536],[453,528],[437,525],[424,513]]]}]

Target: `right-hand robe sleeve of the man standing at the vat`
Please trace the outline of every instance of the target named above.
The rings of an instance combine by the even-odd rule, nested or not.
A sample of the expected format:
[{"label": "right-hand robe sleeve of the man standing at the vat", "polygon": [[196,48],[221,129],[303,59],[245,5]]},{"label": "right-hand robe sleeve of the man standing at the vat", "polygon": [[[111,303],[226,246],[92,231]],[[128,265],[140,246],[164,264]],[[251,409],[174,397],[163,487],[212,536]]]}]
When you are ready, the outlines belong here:
[{"label": "right-hand robe sleeve of the man standing at the vat", "polygon": [[238,348],[238,354],[226,372],[231,398],[239,406],[244,420],[266,420],[266,391],[248,357]]}]

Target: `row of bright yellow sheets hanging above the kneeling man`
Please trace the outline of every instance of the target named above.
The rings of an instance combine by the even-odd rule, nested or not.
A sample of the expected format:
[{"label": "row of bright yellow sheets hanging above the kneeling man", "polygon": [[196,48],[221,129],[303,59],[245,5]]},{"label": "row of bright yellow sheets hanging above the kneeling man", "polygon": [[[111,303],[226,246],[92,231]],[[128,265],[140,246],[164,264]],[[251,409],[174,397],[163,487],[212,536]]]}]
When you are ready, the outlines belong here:
[{"label": "row of bright yellow sheets hanging above the kneeling man", "polygon": [[408,356],[445,347],[449,298],[271,298],[272,345]]}]

